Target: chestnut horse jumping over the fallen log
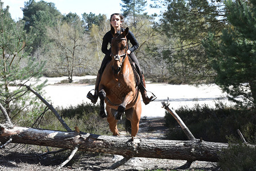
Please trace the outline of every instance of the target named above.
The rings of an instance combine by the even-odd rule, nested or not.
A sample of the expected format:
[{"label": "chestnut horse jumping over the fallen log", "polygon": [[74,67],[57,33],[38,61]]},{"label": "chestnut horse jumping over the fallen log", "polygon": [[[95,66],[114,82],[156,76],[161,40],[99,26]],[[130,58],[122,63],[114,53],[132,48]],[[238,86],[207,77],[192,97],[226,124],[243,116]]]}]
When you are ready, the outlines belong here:
[{"label": "chestnut horse jumping over the fallen log", "polygon": [[126,119],[131,121],[131,136],[135,137],[139,131],[141,94],[136,87],[135,76],[127,56],[128,31],[128,27],[119,33],[111,29],[112,60],[105,67],[99,84],[100,116],[107,117],[113,135],[118,136],[117,121],[125,112]]}]

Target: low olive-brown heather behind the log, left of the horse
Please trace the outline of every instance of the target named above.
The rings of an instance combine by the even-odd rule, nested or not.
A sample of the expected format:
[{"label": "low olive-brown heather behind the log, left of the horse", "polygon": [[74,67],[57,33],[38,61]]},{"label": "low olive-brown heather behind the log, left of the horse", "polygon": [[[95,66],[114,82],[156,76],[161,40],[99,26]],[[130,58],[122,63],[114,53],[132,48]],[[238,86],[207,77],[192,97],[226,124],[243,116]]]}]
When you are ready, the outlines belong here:
[{"label": "low olive-brown heather behind the log, left of the horse", "polygon": [[[82,103],[76,106],[67,108],[57,107],[55,109],[72,130],[77,126],[82,132],[97,135],[112,135],[107,120],[99,116],[99,108],[99,105]],[[23,111],[15,117],[14,121],[23,127],[66,131],[50,110],[44,112],[43,115],[41,114],[42,111],[35,116],[27,116],[27,111]]]}]

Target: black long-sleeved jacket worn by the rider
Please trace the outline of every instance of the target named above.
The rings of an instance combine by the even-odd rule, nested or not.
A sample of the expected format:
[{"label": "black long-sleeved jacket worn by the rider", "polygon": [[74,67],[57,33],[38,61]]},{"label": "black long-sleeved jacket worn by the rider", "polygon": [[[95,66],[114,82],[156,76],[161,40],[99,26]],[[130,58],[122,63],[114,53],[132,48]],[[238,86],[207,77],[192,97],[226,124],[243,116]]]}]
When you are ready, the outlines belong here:
[{"label": "black long-sleeved jacket worn by the rider", "polygon": [[[121,27],[121,32],[123,32],[125,29]],[[105,54],[105,55],[109,55],[111,54],[111,48],[108,49],[108,43],[111,44],[111,40],[112,40],[113,36],[111,34],[111,31],[108,31],[104,37],[103,37],[103,42],[101,45],[101,51]],[[135,51],[138,47],[139,47],[139,43],[137,42],[135,36],[133,35],[133,33],[129,30],[128,35],[126,36],[128,42],[130,41],[132,43],[132,47],[128,49],[131,51],[131,53],[133,51]]]}]

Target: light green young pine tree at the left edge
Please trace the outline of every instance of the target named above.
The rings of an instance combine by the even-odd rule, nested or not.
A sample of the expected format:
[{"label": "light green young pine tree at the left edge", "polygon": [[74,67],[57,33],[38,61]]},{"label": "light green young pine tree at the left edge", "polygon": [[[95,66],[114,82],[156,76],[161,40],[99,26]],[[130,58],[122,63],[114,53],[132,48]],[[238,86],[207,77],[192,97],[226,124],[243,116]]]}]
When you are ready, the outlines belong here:
[{"label": "light green young pine tree at the left edge", "polygon": [[0,5],[0,103],[12,119],[29,107],[33,110],[27,111],[27,115],[35,116],[40,105],[23,84],[40,92],[44,83],[38,84],[37,80],[42,76],[43,64],[36,63],[24,51],[33,40],[23,30],[24,22],[15,23],[9,7],[3,9],[1,1]]}]

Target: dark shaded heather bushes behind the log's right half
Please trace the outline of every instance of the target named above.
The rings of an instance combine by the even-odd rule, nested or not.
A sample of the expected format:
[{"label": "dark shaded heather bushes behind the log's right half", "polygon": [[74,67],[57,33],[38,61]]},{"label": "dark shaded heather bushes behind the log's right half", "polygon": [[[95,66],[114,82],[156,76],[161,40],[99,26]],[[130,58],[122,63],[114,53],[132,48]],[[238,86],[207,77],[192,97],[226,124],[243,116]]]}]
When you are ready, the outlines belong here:
[{"label": "dark shaded heather bushes behind the log's right half", "polygon": [[[238,137],[237,129],[239,129],[252,142],[255,141],[254,109],[234,109],[225,107],[223,104],[216,104],[216,108],[195,105],[193,108],[181,107],[176,110],[176,113],[197,139],[202,137],[205,141],[226,143],[226,136]],[[170,128],[168,139],[187,140],[185,133],[178,127],[177,121],[167,112],[165,126]]]}]

